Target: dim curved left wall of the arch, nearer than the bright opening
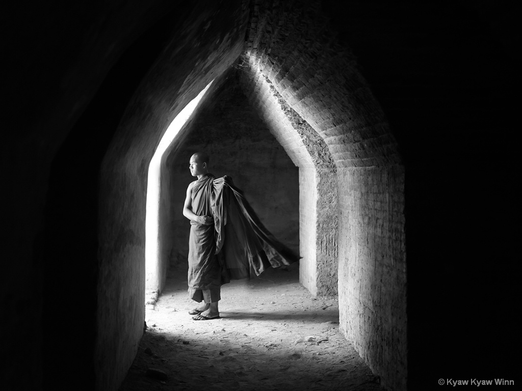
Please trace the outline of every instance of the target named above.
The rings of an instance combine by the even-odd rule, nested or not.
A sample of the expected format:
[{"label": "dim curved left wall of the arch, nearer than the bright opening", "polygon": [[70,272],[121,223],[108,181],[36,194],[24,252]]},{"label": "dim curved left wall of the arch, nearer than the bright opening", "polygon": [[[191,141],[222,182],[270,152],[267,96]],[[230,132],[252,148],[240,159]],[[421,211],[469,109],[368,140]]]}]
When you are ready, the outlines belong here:
[{"label": "dim curved left wall of the arch, nearer than the bright opening", "polygon": [[147,169],[172,119],[243,49],[242,2],[195,7],[129,104],[100,177],[97,389],[115,389],[143,333]]}]

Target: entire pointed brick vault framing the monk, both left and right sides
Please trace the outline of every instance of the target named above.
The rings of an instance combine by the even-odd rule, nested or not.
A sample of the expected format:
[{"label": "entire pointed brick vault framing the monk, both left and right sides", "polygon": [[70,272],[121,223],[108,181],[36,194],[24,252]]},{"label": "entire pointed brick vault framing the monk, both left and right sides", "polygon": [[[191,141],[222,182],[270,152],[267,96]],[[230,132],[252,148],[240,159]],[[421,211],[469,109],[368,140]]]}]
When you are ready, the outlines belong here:
[{"label": "entire pointed brick vault framing the monk, both left and right sides", "polygon": [[[203,46],[207,52],[192,48],[194,57],[187,57],[186,63],[165,51],[127,109],[119,137],[104,160],[101,189],[104,267],[100,279],[107,283],[99,285],[99,293],[102,300],[115,300],[122,315],[100,313],[98,327],[121,328],[118,322],[123,321],[128,323],[123,327],[139,340],[143,309],[136,303],[143,302],[143,290],[136,289],[144,288],[145,184],[141,176],[172,118],[211,79],[225,77],[224,72],[241,55],[238,67],[245,95],[300,169],[302,284],[315,295],[338,291],[345,335],[384,384],[404,388],[404,170],[394,138],[353,58],[346,51],[336,51],[331,32],[313,17],[314,4],[301,4],[297,12],[292,5],[258,4],[253,9],[251,20],[263,28],[251,23],[246,47],[241,35],[247,31],[246,9],[237,9],[242,17],[236,20],[241,23],[234,25],[235,35],[224,35],[224,39],[219,31],[226,23],[208,28],[200,18],[205,31],[201,36],[213,32],[217,40],[202,41],[213,42]],[[314,40],[320,44],[303,44]],[[194,47],[186,37],[183,42],[187,50]],[[180,140],[184,137],[180,135]],[[113,194],[113,189],[118,193]],[[117,204],[111,202],[116,198]],[[132,216],[126,215],[129,209]],[[129,280],[132,288],[121,278]],[[118,290],[124,295],[113,297]],[[132,300],[121,302],[122,297]],[[123,341],[98,340],[99,349],[103,346],[116,355],[136,349],[136,345],[118,344]],[[124,367],[122,362],[122,371]]]}]

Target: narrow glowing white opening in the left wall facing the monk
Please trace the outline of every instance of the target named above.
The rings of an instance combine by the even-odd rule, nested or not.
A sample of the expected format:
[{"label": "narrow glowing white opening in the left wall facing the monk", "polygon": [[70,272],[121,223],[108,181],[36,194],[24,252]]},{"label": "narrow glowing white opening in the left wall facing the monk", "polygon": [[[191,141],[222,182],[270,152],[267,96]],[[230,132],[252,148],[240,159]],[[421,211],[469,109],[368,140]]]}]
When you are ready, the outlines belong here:
[{"label": "narrow glowing white opening in the left wall facing the monk", "polygon": [[[212,80],[213,81],[213,80]],[[147,291],[158,291],[160,288],[159,262],[159,205],[160,205],[160,170],[161,158],[169,148],[177,133],[183,128],[186,121],[209,89],[212,81],[201,91],[182,111],[172,120],[165,131],[156,152],[149,164],[147,181],[147,215],[145,219],[145,271]],[[180,205],[181,209],[181,205]],[[147,297],[145,298],[147,301]]]}]

